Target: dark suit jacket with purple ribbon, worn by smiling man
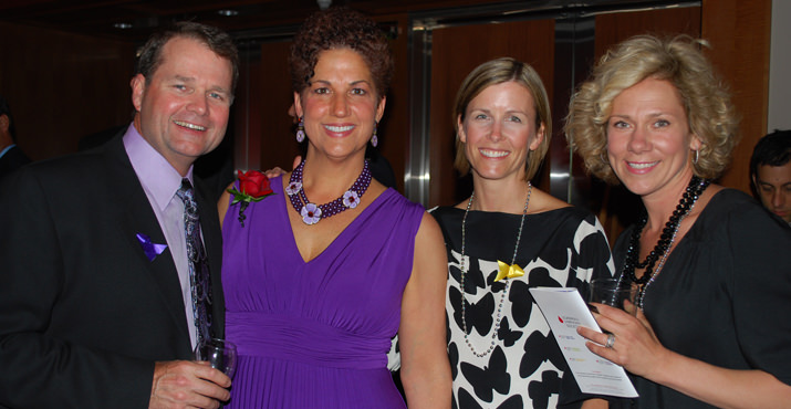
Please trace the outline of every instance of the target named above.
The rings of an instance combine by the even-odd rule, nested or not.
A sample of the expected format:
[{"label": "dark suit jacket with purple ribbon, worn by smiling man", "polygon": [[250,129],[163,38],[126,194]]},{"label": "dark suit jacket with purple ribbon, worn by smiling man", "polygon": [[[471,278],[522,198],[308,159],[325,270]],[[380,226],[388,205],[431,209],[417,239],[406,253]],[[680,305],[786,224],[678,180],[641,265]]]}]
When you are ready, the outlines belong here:
[{"label": "dark suit jacket with purple ribbon, worn by smiling man", "polygon": [[[32,164],[0,191],[0,408],[147,408],[154,363],[190,359],[169,250],[121,137]],[[217,207],[196,180],[223,336]]]}]

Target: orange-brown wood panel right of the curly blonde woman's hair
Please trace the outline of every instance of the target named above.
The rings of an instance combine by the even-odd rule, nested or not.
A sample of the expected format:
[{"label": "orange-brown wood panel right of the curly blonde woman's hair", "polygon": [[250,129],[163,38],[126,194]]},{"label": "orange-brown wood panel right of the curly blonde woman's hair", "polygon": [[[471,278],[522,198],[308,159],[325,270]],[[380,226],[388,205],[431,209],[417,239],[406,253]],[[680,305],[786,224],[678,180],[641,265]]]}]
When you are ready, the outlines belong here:
[{"label": "orange-brown wood panel right of the curly blonde woman's hair", "polygon": [[702,36],[708,56],[730,86],[741,116],[739,145],[724,186],[750,192],[750,156],[767,134],[771,0],[704,0]]}]

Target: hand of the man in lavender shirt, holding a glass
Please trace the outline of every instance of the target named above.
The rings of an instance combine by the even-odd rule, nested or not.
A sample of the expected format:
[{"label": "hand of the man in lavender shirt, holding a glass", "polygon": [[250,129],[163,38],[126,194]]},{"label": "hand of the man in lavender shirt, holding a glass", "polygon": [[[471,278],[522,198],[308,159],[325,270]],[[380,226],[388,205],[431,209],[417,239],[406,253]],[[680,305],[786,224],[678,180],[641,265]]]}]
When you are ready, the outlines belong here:
[{"label": "hand of the man in lavender shirt, holding a glass", "polygon": [[216,409],[230,399],[231,379],[208,363],[156,363],[149,409]]}]

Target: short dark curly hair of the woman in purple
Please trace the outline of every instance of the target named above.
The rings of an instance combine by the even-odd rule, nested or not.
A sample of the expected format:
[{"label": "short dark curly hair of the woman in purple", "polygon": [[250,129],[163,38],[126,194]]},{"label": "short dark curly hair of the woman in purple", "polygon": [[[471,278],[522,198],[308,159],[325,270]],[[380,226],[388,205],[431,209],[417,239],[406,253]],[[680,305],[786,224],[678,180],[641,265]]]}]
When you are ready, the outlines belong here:
[{"label": "short dark curly hair of the woman in purple", "polygon": [[291,45],[291,87],[301,93],[311,84],[319,54],[326,50],[351,49],[371,70],[377,97],[387,93],[393,78],[393,56],[384,32],[371,18],[345,7],[311,14]]}]

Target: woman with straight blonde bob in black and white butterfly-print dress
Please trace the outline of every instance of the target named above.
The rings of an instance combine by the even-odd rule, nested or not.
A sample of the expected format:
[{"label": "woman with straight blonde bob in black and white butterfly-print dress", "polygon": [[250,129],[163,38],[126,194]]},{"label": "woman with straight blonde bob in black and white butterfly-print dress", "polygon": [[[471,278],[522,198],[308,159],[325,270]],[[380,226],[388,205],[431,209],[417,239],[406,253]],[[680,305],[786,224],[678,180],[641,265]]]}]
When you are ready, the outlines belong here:
[{"label": "woman with straight blonde bob in black and white butterfly-print dress", "polygon": [[[612,275],[596,218],[530,182],[549,148],[551,117],[528,64],[481,64],[456,97],[456,168],[469,199],[433,211],[448,251],[448,354],[458,408],[592,408],[528,289],[577,287]],[[464,290],[462,290],[464,289]],[[586,400],[590,399],[590,400]]]}]

